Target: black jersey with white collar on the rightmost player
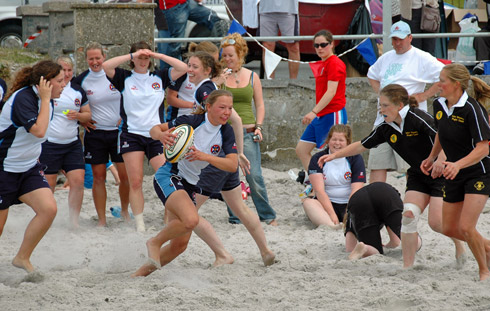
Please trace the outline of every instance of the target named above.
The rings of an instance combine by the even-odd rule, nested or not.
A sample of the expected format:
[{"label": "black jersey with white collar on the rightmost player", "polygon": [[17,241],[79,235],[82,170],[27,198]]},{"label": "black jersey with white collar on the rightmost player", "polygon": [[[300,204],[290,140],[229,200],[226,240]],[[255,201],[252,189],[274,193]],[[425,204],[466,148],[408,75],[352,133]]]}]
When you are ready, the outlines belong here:
[{"label": "black jersey with white collar on the rightmost player", "polygon": [[[434,116],[442,149],[447,160],[456,162],[467,156],[476,144],[490,139],[488,113],[474,98],[463,93],[458,103],[450,109],[443,97],[434,101]],[[485,174],[490,171],[490,158],[460,171],[463,174]]]}]

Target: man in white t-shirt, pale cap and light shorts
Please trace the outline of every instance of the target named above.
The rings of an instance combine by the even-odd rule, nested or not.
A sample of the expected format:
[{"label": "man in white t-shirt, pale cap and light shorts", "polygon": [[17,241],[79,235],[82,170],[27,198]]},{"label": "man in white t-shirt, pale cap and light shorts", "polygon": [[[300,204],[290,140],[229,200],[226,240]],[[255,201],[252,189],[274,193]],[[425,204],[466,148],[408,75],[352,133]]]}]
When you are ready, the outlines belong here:
[{"label": "man in white t-shirt, pale cap and light shorts", "polygon": [[[409,95],[416,98],[419,109],[427,111],[427,99],[438,90],[436,82],[439,81],[439,72],[443,64],[429,53],[412,46],[410,26],[404,21],[393,24],[390,32],[393,50],[384,53],[369,67],[367,74],[369,84],[376,94],[379,94],[379,91],[388,84],[400,84]],[[425,90],[427,83],[434,83],[434,85]],[[383,122],[379,103],[377,110],[375,127]],[[408,165],[387,143],[369,152],[370,182],[385,182],[388,170],[405,171],[407,168]]]}]

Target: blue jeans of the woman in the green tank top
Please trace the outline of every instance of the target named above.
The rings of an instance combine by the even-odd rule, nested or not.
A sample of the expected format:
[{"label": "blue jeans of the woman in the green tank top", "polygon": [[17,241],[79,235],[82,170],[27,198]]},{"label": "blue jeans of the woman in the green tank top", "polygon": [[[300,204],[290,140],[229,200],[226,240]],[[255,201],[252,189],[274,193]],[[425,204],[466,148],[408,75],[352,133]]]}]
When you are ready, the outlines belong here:
[{"label": "blue jeans of the woman in the green tank top", "polygon": [[[260,221],[271,222],[276,219],[276,212],[269,204],[264,177],[262,177],[260,144],[253,141],[253,133],[243,133],[243,153],[250,161],[250,174],[245,178],[250,186],[250,194],[259,214]],[[240,223],[238,217],[228,208],[229,222]]]}]

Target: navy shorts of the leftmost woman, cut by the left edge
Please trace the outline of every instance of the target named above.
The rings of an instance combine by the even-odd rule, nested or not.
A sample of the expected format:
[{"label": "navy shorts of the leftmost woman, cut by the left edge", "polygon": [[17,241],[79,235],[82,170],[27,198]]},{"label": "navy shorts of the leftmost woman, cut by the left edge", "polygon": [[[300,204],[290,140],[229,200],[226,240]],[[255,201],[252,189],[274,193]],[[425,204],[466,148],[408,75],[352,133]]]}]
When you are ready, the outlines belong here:
[{"label": "navy shorts of the leftmost woman, cut by the left edge", "polygon": [[21,204],[19,197],[40,188],[49,188],[40,163],[24,173],[0,170],[0,210],[5,210],[14,204]]}]

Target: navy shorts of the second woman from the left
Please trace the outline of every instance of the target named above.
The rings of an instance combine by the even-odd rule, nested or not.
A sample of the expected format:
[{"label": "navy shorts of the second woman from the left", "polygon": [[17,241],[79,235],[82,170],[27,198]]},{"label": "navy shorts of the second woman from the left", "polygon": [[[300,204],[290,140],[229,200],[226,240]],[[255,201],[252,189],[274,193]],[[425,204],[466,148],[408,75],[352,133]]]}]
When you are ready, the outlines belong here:
[{"label": "navy shorts of the second woman from the left", "polygon": [[46,174],[58,174],[60,170],[65,172],[85,169],[83,159],[82,142],[80,139],[69,144],[56,144],[45,141],[39,161],[46,166]]}]

